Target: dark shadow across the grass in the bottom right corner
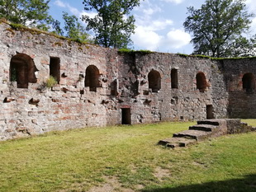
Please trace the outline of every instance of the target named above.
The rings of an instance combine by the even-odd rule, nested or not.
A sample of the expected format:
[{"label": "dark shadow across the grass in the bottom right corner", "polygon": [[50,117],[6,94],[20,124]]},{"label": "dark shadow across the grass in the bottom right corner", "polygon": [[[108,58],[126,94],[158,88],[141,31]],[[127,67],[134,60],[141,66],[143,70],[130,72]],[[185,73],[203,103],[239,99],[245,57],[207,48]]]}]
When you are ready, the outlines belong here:
[{"label": "dark shadow across the grass in the bottom right corner", "polygon": [[255,192],[256,191],[256,174],[244,176],[243,179],[212,181],[209,183],[197,185],[184,185],[178,187],[157,186],[150,187],[149,190],[142,192]]}]

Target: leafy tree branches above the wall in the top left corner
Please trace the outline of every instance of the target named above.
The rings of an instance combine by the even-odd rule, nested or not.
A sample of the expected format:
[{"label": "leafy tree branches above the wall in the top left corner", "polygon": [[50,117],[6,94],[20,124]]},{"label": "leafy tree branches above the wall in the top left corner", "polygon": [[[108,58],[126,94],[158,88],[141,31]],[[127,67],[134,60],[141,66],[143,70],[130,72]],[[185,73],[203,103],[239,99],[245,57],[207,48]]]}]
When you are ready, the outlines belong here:
[{"label": "leafy tree branches above the wall in the top left corner", "polygon": [[0,17],[24,26],[47,28],[50,0],[0,0]]}]

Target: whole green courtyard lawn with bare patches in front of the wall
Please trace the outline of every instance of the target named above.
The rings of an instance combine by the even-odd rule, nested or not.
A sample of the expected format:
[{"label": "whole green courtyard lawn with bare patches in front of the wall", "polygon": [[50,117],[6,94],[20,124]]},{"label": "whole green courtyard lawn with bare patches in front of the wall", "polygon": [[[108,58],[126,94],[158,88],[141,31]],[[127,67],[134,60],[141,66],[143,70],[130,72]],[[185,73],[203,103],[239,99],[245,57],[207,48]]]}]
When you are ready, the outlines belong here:
[{"label": "whole green courtyard lawn with bare patches in front of the wall", "polygon": [[[246,121],[256,126],[256,119]],[[156,145],[192,124],[74,129],[1,142],[0,191],[256,191],[255,132],[175,150]]]}]

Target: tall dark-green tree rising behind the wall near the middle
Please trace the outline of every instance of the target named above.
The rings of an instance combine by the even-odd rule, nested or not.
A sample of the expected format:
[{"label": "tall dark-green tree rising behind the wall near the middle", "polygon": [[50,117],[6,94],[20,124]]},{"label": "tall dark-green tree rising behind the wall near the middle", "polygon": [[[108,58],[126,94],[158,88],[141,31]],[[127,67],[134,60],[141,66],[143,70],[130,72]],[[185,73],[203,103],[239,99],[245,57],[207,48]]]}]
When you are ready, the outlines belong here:
[{"label": "tall dark-green tree rising behind the wall near the middle", "polygon": [[135,30],[135,18],[130,11],[140,0],[83,0],[85,11],[96,11],[93,18],[83,15],[87,30],[93,30],[96,43],[104,47],[126,48]]}]

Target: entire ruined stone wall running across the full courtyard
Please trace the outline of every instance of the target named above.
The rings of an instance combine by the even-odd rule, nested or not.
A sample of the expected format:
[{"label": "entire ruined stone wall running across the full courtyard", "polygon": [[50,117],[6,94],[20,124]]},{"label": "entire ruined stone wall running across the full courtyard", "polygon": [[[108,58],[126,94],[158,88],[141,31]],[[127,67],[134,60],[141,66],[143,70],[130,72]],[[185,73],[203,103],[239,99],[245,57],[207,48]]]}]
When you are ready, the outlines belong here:
[{"label": "entire ruined stone wall running across the full courtyard", "polygon": [[[256,114],[248,112],[254,59],[234,64],[121,53],[7,24],[1,24],[0,38],[0,140],[56,129]],[[251,88],[241,88],[244,73],[244,87]],[[51,88],[45,86],[50,75],[58,82]]]}]

